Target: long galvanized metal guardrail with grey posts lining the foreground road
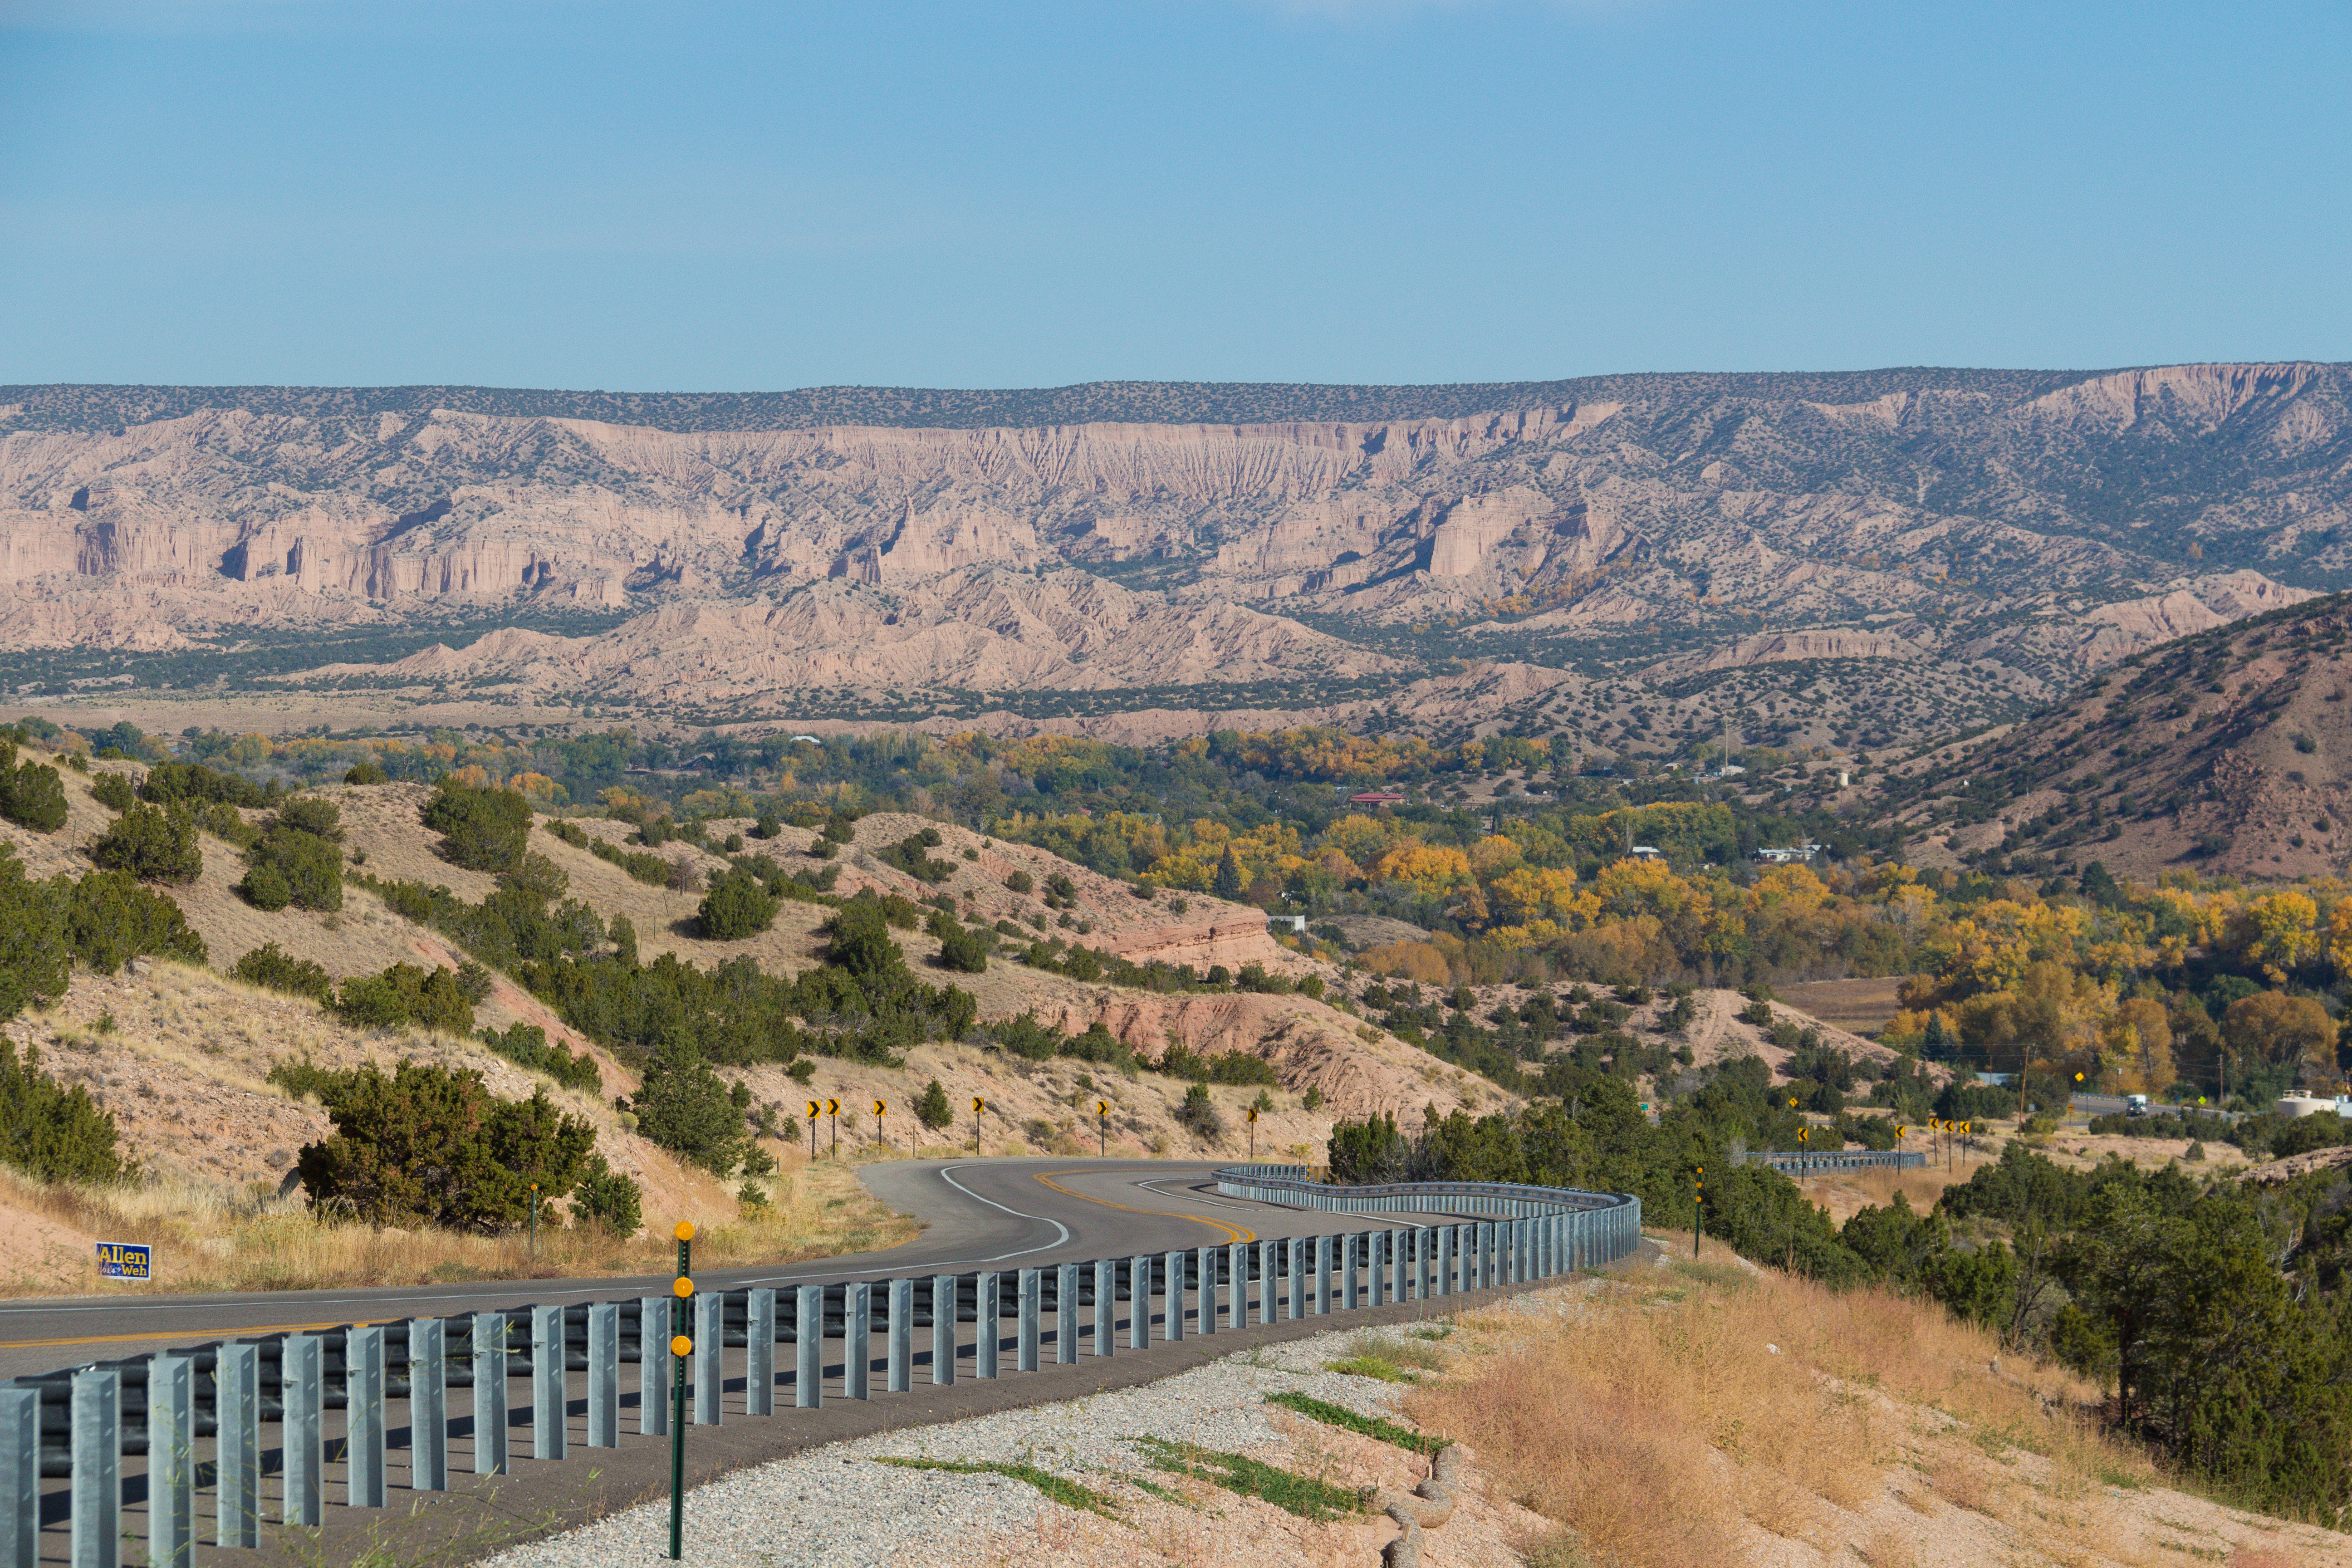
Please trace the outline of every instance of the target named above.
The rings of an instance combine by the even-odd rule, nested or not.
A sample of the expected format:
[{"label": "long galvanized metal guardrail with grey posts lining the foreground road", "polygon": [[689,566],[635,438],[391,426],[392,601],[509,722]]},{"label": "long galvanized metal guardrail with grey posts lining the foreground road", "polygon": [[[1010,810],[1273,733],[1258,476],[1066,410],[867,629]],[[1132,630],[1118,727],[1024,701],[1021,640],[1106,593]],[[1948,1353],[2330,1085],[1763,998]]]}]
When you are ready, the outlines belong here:
[{"label": "long galvanized metal guardrail with grey posts lining the foreground road", "polygon": [[[1298,1208],[1430,1213],[1435,1206],[1498,1218],[1035,1269],[696,1293],[684,1368],[689,1425],[717,1427],[729,1413],[774,1418],[779,1396],[800,1410],[828,1396],[870,1399],[877,1371],[887,1392],[903,1394],[917,1361],[929,1363],[931,1385],[953,1385],[967,1361],[969,1375],[997,1378],[1033,1373],[1047,1356],[1070,1366],[1082,1342],[1087,1354],[1110,1356],[1120,1349],[1120,1302],[1127,1302],[1124,1349],[1138,1352],[1150,1347],[1155,1326],[1169,1342],[1188,1331],[1232,1333],[1251,1312],[1258,1324],[1275,1324],[1444,1300],[1611,1262],[1639,1241],[1639,1201],[1618,1194],[1482,1182],[1350,1190],[1303,1178],[1301,1166],[1216,1173],[1225,1192]],[[125,1458],[146,1462],[146,1561],[158,1568],[193,1568],[200,1535],[221,1547],[259,1547],[263,1523],[315,1528],[329,1502],[388,1507],[395,1458],[407,1460],[412,1493],[449,1490],[452,1467],[508,1474],[517,1380],[529,1389],[534,1460],[574,1455],[567,1420],[574,1394],[586,1394],[581,1448],[619,1448],[623,1425],[635,1436],[668,1436],[675,1392],[668,1321],[668,1295],[508,1307],[275,1333],[14,1378],[0,1385],[7,1505],[0,1568],[38,1568],[42,1509],[59,1490],[71,1568],[120,1568],[132,1481],[122,1474]],[[969,1345],[964,1324],[974,1326]],[[929,1331],[922,1352],[917,1331]],[[828,1361],[828,1340],[840,1340],[840,1361]],[[790,1347],[783,1368],[779,1345]],[[623,1408],[630,1363],[633,1413]],[[729,1396],[734,1378],[741,1401]],[[449,1410],[452,1389],[470,1394],[461,1415]],[[388,1410],[395,1401],[405,1403],[400,1425]],[[45,1497],[45,1479],[66,1486]],[[209,1514],[200,1502],[212,1505]]]}]

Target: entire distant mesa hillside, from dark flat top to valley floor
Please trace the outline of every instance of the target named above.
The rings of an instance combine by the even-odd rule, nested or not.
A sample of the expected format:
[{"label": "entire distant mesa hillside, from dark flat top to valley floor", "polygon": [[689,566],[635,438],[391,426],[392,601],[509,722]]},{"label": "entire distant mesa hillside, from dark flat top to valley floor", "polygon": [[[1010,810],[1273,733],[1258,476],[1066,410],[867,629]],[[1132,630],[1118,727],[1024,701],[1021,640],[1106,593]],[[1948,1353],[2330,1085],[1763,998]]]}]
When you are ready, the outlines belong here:
[{"label": "entire distant mesa hillside, from dark flat top to valley floor", "polygon": [[148,729],[275,726],[292,684],[426,722],[1884,748],[2343,588],[2347,447],[2333,364],[5,388],[0,675]]}]

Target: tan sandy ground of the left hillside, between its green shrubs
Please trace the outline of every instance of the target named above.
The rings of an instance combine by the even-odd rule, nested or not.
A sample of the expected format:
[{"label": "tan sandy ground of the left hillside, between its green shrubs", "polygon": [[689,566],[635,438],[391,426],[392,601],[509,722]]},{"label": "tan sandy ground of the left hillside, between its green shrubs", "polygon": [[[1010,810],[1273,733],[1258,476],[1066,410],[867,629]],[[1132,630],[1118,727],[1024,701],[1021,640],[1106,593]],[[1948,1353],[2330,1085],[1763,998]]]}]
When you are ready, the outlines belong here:
[{"label": "tan sandy ground of the left hillside, between its green shrubs", "polygon": [[[134,773],[136,769],[101,762],[89,776],[64,773],[68,820],[56,832],[42,835],[0,823],[0,839],[31,875],[73,877],[89,870],[87,844],[113,820],[113,811],[92,799],[89,785],[92,778],[108,771]],[[430,790],[419,785],[334,785],[313,795],[339,806],[355,872],[381,877],[388,884],[437,884],[470,903],[496,889],[494,877],[461,870],[435,853],[435,835],[419,825],[419,806],[430,797]],[[268,811],[245,809],[242,816],[261,823]],[[750,825],[748,820],[713,823],[713,830],[724,835]],[[626,825],[607,820],[586,820],[581,827],[602,839],[619,839],[626,832]],[[946,891],[960,898],[967,919],[1028,919],[1025,929],[1087,940],[1101,952],[1131,961],[1167,959],[1202,969],[1265,964],[1294,973],[1322,969],[1275,945],[1265,931],[1265,917],[1256,910],[1216,898],[1192,898],[1183,910],[1171,907],[1176,900],[1145,903],[1127,884],[1068,865],[1042,849],[997,844],[967,830],[938,827],[943,842],[931,853],[946,856],[955,872],[934,884],[917,882],[880,858],[882,851],[924,827],[934,825],[924,818],[889,813],[863,818],[856,825],[856,837],[830,860],[840,867],[837,891],[873,889],[901,898],[931,898]],[[779,863],[790,863],[795,870],[814,867],[818,860],[809,849],[816,837],[811,830],[783,827],[779,837],[755,842],[755,849]],[[553,1041],[595,1060],[602,1079],[600,1091],[555,1086],[506,1060],[480,1039],[456,1039],[414,1027],[350,1027],[303,997],[266,992],[226,978],[221,971],[228,971],[261,943],[278,943],[292,957],[320,964],[336,980],[369,976],[388,964],[454,969],[466,961],[466,952],[449,938],[393,912],[365,886],[346,886],[343,907],[332,914],[296,907],[261,912],[235,891],[242,875],[238,849],[209,832],[200,842],[202,875],[193,884],[169,889],[169,893],[202,936],[214,969],[162,959],[136,959],[113,976],[75,969],[71,990],[61,999],[31,1009],[5,1025],[7,1037],[19,1048],[33,1046],[42,1053],[42,1065],[52,1077],[87,1088],[115,1117],[125,1154],[153,1182],[153,1197],[143,1199],[141,1213],[148,1213],[155,1225],[174,1227],[169,1229],[174,1237],[209,1237],[205,1246],[219,1244],[214,1251],[198,1253],[209,1262],[191,1262],[186,1251],[179,1253],[174,1274],[179,1284],[249,1281],[256,1265],[245,1258],[245,1248],[280,1248],[287,1241],[270,1227],[282,1227],[299,1208],[299,1201],[287,1197],[294,1152],[329,1131],[325,1112],[313,1100],[268,1081],[270,1067],[287,1060],[308,1060],[325,1070],[369,1060],[379,1065],[426,1060],[482,1072],[489,1088],[506,1098],[527,1098],[534,1088],[546,1088],[564,1112],[588,1119],[597,1128],[597,1150],[616,1171],[633,1175],[644,1187],[649,1220],[734,1220],[736,1194],[729,1182],[720,1182],[637,1135],[635,1119],[616,1110],[616,1095],[626,1098],[640,1086],[633,1058],[567,1027],[548,1004],[517,987],[508,976],[492,976],[489,994],[475,1009],[477,1025],[506,1030],[522,1023],[546,1030]],[[767,973],[790,976],[826,959],[826,938],[818,931],[828,914],[823,905],[786,900],[767,933],[736,943],[706,940],[694,919],[699,886],[637,882],[609,860],[546,832],[546,818],[541,818],[541,830],[532,835],[532,842],[562,870],[569,898],[593,907],[600,922],[628,917],[630,926],[642,933],[640,954],[647,961],[673,954],[713,969],[750,957]],[[687,867],[696,884],[727,867],[722,856],[677,839],[663,846],[663,858]],[[1016,875],[1025,875],[1028,886],[1040,891],[1035,896],[1014,893],[1007,882],[1018,882]],[[673,879],[689,882],[682,872]],[[1068,886],[1068,896],[1056,898],[1061,907],[1054,914],[1044,905],[1051,884]],[[1056,926],[1056,919],[1063,924]],[[833,1178],[826,1171],[837,1171],[830,1164],[816,1171],[807,1168],[807,1128],[800,1121],[800,1105],[811,1095],[835,1098],[849,1107],[837,1126],[828,1124],[826,1128],[823,1154],[828,1159],[835,1138],[842,1154],[873,1159],[920,1147],[971,1147],[974,1133],[981,1135],[985,1152],[1082,1154],[1094,1152],[1101,1143],[1110,1154],[1129,1157],[1242,1157],[1256,1147],[1261,1154],[1310,1159],[1319,1152],[1338,1114],[1362,1117],[1376,1107],[1399,1105],[1435,1105],[1439,1112],[1449,1112],[1461,1105],[1510,1103],[1491,1086],[1468,1081],[1461,1070],[1308,994],[1237,990],[1160,994],[1108,983],[1080,983],[1002,957],[985,973],[948,976],[934,966],[938,952],[934,938],[922,931],[896,931],[894,936],[924,978],[962,980],[981,1004],[983,1025],[1018,1013],[1030,1013],[1042,1025],[1070,1034],[1103,1025],[1150,1060],[1178,1044],[1202,1056],[1237,1051],[1270,1063],[1275,1086],[1270,1091],[1211,1086],[1211,1107],[1221,1126],[1209,1131],[1178,1119],[1190,1088],[1183,1077],[1120,1072],[1117,1067],[1091,1067],[1089,1074],[1089,1065],[1073,1058],[1023,1060],[1000,1051],[985,1032],[969,1039],[915,1044],[903,1051],[903,1065],[816,1058],[802,1065],[807,1077],[793,1077],[776,1063],[724,1067],[722,1077],[729,1084],[743,1084],[755,1110],[771,1110],[776,1135],[764,1147],[783,1166],[776,1182],[788,1185],[793,1194],[804,1192],[802,1173],[830,1192]],[[920,1128],[913,1117],[915,1098],[931,1079],[957,1107],[955,1124],[936,1133]],[[974,1128],[969,1114],[974,1095],[990,1107],[981,1128]],[[1112,1107],[1108,1119],[1094,1114],[1098,1098]],[[873,1100],[884,1100],[891,1107],[880,1124],[868,1112]],[[1263,1107],[1254,1143],[1247,1121],[1251,1103]],[[771,1241],[762,1244],[767,1253],[807,1253],[811,1246],[826,1246],[826,1239],[842,1232],[844,1225],[863,1227],[856,1234],[866,1239],[889,1234],[887,1225],[880,1232],[873,1229],[882,1220],[870,1204],[854,1197],[854,1187],[842,1187],[840,1197],[847,1208],[828,1204],[816,1211],[809,1204],[809,1213],[800,1213],[788,1204],[800,1229],[779,1229]],[[78,1284],[87,1274],[89,1227],[115,1215],[115,1208],[113,1199],[42,1197],[19,1182],[0,1182],[0,1239],[7,1239],[16,1258],[0,1276],[0,1288]],[[750,1248],[753,1241],[729,1246]],[[289,1262],[285,1267],[301,1274],[303,1267],[325,1269],[327,1265]],[[346,1258],[339,1267],[346,1274],[355,1267],[376,1276],[402,1274],[402,1265],[376,1255],[360,1262]],[[437,1265],[426,1258],[414,1267]]]}]

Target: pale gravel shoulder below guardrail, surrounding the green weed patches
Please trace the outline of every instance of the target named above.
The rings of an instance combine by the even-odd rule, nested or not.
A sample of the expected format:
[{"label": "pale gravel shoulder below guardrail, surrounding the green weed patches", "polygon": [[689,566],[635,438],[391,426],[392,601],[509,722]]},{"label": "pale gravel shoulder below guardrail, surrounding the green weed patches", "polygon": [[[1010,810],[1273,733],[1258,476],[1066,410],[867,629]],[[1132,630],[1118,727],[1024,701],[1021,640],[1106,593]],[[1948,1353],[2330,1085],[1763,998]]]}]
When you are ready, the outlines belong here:
[{"label": "pale gravel shoulder below guardrail, surrounding the green weed patches", "polygon": [[[1397,1526],[1378,1512],[1308,1521],[1258,1497],[1152,1465],[1157,1443],[1240,1453],[1343,1490],[1411,1490],[1425,1458],[1270,1406],[1301,1392],[1359,1415],[1397,1413],[1404,1385],[1327,1371],[1406,1328],[1350,1328],[1225,1356],[1134,1389],[908,1427],[828,1443],[736,1472],[687,1495],[684,1561],[699,1568],[917,1568],[1054,1563],[1376,1563]],[[1418,1345],[1428,1345],[1421,1340]],[[1167,1453],[1160,1448],[1157,1453]],[[1096,1493],[1105,1514],[1054,1502],[995,1474],[915,1469],[889,1460],[1028,1465]],[[1505,1568],[1512,1542],[1543,1533],[1515,1505],[1465,1488],[1423,1561]],[[621,1568],[668,1561],[668,1502],[517,1547],[494,1568]]]}]

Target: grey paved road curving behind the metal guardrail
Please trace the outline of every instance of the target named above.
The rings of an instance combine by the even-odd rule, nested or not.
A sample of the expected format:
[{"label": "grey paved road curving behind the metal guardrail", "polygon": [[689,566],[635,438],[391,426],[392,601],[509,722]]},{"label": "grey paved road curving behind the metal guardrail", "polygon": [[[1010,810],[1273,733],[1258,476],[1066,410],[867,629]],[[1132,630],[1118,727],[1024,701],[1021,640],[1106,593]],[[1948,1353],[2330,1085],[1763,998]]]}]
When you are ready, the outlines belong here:
[{"label": "grey paved road curving behind the metal guardrail", "polygon": [[[1176,1246],[1416,1225],[1425,1215],[1327,1215],[1228,1199],[1209,1164],[915,1159],[866,1166],[863,1182],[915,1215],[915,1241],[786,1267],[696,1269],[703,1288],[823,1284],[889,1274],[1037,1267]],[[529,1302],[661,1295],[668,1274],[513,1279],[353,1291],[120,1295],[0,1302],[0,1380],[249,1333],[449,1316]]]}]

